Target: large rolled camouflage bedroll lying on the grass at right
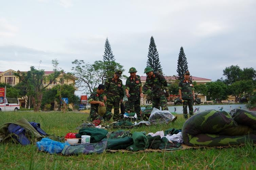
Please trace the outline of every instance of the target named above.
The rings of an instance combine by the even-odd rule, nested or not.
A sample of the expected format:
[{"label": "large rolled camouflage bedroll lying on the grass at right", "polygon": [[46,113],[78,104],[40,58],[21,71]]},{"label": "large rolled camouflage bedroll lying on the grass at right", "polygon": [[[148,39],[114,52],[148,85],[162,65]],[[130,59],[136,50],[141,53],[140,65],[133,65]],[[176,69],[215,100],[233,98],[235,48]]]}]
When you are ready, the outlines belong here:
[{"label": "large rolled camouflage bedroll lying on the grass at right", "polygon": [[182,127],[184,144],[220,147],[256,143],[256,112],[234,109],[206,110],[190,117]]}]

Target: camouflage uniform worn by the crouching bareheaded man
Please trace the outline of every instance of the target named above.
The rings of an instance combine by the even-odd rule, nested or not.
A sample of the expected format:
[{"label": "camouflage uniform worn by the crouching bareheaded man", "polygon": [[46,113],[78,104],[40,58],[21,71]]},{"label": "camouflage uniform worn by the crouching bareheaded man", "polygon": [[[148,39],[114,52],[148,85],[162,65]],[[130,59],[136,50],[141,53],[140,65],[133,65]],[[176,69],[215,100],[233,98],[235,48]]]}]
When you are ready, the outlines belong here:
[{"label": "camouflage uniform worn by the crouching bareheaded man", "polygon": [[[92,92],[90,98],[88,99],[88,103],[91,101],[100,101],[100,102],[104,102],[103,100],[103,95],[102,94],[97,94],[97,92]],[[103,117],[100,116],[98,114],[98,106],[99,104],[91,104],[91,110],[90,110],[90,121],[94,121],[94,120],[106,120],[109,121],[112,117],[112,113],[111,112],[106,112]]]}]

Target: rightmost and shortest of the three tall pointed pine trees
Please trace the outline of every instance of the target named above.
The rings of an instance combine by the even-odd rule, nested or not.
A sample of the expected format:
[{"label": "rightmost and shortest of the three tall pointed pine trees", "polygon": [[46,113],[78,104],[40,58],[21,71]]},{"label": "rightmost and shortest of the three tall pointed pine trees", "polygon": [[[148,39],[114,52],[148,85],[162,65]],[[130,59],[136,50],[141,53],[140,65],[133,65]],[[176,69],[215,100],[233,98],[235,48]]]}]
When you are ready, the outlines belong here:
[{"label": "rightmost and shortest of the three tall pointed pine trees", "polygon": [[183,47],[180,47],[180,53],[179,53],[179,58],[178,58],[178,76],[179,80],[182,80],[184,78],[184,73],[188,70],[188,62],[186,55],[184,53]]}]

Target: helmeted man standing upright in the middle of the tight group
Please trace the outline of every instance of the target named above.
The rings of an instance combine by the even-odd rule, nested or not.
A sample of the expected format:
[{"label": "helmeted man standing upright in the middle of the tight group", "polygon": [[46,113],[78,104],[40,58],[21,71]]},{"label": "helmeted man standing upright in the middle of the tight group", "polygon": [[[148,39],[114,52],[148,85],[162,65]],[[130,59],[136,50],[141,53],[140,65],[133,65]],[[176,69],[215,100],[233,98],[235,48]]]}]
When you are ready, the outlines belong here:
[{"label": "helmeted man standing upright in the middle of the tight group", "polygon": [[129,69],[130,77],[126,80],[125,92],[128,98],[126,102],[126,110],[128,113],[135,112],[140,119],[140,94],[142,93],[142,83],[140,76],[136,75],[136,68]]}]

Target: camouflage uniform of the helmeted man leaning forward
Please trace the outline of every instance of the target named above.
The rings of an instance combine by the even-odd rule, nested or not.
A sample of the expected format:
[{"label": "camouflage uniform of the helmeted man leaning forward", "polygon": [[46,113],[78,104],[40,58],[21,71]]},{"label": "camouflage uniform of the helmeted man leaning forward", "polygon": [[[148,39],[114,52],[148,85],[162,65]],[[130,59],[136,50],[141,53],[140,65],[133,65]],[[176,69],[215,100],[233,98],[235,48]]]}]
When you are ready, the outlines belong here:
[{"label": "camouflage uniform of the helmeted man leaning forward", "polygon": [[160,109],[161,106],[162,110],[168,110],[164,90],[166,93],[169,93],[169,91],[167,87],[167,81],[162,74],[154,72],[151,77],[147,76],[146,83],[143,86],[142,92],[144,93],[147,90],[151,90],[152,107]]}]

